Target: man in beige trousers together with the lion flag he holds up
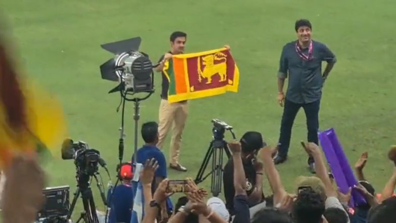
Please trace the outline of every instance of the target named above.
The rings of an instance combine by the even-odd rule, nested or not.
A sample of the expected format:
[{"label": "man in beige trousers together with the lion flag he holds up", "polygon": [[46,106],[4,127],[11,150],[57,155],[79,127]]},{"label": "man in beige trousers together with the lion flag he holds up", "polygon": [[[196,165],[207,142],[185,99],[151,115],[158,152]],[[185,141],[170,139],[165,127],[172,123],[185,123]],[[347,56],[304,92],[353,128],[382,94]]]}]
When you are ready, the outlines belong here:
[{"label": "man in beige trousers together with the lion flag he holds up", "polygon": [[210,97],[227,91],[237,92],[239,71],[224,46],[219,50],[183,54],[187,34],[175,31],[170,36],[171,50],[164,54],[160,65],[162,92],[159,111],[159,141],[161,150],[173,124],[169,166],[178,171],[187,171],[179,163],[182,132],[188,115],[188,101]]}]

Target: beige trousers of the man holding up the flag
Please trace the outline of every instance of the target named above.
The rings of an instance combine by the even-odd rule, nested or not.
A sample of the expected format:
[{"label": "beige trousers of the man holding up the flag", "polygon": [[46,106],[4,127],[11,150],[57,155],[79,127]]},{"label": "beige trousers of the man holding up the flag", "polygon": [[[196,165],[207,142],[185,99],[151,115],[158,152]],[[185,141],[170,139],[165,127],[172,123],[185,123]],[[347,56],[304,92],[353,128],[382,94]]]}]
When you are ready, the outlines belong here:
[{"label": "beige trousers of the man holding up the flag", "polygon": [[170,145],[170,164],[179,163],[181,135],[185,126],[188,115],[188,102],[169,103],[161,99],[160,105],[160,123],[158,124],[159,141],[157,147],[163,150],[166,136],[170,127],[172,127],[172,138]]}]

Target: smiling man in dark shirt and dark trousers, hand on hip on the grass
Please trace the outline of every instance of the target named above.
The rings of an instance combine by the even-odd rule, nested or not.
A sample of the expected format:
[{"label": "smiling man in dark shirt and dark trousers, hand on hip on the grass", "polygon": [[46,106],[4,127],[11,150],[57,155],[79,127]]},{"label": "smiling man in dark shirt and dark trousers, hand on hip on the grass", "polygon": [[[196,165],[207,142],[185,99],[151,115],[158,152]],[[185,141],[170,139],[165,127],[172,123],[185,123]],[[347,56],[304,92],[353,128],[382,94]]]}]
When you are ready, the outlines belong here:
[{"label": "smiling man in dark shirt and dark trousers, hand on hip on the grass", "polygon": [[[278,152],[275,164],[287,159],[290,145],[291,127],[301,107],[307,117],[308,142],[318,145],[319,107],[323,83],[329,75],[335,55],[325,44],[311,39],[312,25],[308,20],[295,22],[298,40],[286,43],[280,57],[278,72],[278,102],[283,107]],[[322,61],[327,66],[322,74]],[[285,79],[289,77],[286,97],[283,93]],[[312,157],[308,158],[311,172],[315,172]]]}]

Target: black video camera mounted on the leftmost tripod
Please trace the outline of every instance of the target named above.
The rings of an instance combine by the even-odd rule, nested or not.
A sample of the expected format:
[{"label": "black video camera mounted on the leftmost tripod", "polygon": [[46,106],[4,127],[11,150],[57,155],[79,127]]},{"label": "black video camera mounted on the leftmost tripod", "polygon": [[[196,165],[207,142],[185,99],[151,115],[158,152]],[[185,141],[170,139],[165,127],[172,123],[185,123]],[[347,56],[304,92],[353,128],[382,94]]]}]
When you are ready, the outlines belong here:
[{"label": "black video camera mounted on the leftmost tripod", "polygon": [[87,143],[78,141],[74,143],[71,139],[66,139],[62,144],[62,159],[74,159],[74,164],[79,173],[93,175],[98,170],[98,163],[106,166],[105,160],[101,158],[101,153],[95,149],[89,149]]}]

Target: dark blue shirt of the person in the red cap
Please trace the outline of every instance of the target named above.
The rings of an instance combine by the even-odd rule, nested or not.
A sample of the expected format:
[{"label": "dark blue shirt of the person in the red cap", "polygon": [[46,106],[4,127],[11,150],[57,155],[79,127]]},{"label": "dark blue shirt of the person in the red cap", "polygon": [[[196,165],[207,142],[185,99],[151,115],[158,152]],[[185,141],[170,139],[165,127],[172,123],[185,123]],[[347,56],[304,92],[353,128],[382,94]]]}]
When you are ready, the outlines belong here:
[{"label": "dark blue shirt of the person in the red cap", "polygon": [[130,222],[133,206],[133,190],[131,185],[121,184],[108,192],[108,199],[111,197],[109,223]]}]

